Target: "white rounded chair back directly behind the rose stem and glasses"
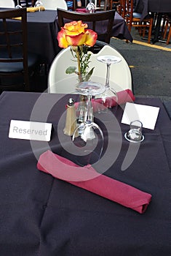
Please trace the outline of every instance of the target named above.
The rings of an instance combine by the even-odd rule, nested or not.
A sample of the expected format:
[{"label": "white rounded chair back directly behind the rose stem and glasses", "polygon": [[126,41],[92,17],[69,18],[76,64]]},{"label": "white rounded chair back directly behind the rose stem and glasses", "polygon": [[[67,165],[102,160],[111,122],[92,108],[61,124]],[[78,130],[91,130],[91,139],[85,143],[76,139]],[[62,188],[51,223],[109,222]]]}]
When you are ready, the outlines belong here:
[{"label": "white rounded chair back directly behind the rose stem and glasses", "polygon": [[[116,91],[132,90],[132,74],[127,61],[114,47],[107,44],[97,54],[92,54],[90,58],[90,69],[95,67],[91,80],[104,84],[106,82],[106,64],[97,60],[100,55],[114,55],[122,59],[118,64],[111,64],[110,86]],[[76,83],[78,83],[77,75],[65,74],[67,67],[76,67],[77,62],[72,60],[70,48],[65,48],[57,54],[49,69],[49,93],[70,94],[75,91]]]}]

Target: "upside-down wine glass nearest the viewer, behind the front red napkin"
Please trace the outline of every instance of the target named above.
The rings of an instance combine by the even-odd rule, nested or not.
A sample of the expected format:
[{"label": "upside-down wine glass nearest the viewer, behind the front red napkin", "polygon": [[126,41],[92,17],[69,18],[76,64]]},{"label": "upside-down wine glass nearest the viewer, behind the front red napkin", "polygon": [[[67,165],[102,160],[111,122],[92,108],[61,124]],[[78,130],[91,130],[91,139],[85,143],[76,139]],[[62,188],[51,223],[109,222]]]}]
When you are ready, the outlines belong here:
[{"label": "upside-down wine glass nearest the viewer, behind the front red napkin", "polygon": [[102,94],[105,91],[105,86],[101,83],[84,81],[76,85],[76,91],[79,92],[79,94],[81,95],[87,96],[87,110],[85,113],[84,121],[79,124],[79,126],[76,127],[75,131],[73,132],[72,140],[74,141],[79,133],[81,140],[84,140],[84,142],[87,143],[87,140],[95,139],[95,129],[98,129],[98,131],[100,132],[100,137],[102,138],[100,154],[98,157],[98,159],[100,159],[103,152],[104,137],[102,130],[100,129],[98,124],[95,124],[93,120],[92,97],[97,94]]}]

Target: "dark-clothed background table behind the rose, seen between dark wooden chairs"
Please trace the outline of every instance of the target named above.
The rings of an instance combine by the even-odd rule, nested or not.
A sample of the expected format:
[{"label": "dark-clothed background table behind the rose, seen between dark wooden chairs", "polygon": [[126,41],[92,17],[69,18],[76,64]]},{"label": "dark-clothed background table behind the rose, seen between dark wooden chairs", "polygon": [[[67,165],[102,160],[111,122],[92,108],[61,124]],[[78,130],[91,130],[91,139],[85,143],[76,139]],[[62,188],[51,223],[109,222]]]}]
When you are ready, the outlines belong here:
[{"label": "dark-clothed background table behind the rose, seen between dark wooden chairs", "polygon": [[[0,10],[4,10],[0,8]],[[39,54],[41,61],[50,65],[61,50],[57,42],[57,11],[45,10],[44,12],[28,12],[28,51]],[[9,21],[12,26],[16,20]],[[1,26],[1,24],[0,24]],[[102,29],[102,27],[100,28]],[[112,37],[128,39],[132,42],[132,36],[127,29],[124,19],[116,13]]]}]

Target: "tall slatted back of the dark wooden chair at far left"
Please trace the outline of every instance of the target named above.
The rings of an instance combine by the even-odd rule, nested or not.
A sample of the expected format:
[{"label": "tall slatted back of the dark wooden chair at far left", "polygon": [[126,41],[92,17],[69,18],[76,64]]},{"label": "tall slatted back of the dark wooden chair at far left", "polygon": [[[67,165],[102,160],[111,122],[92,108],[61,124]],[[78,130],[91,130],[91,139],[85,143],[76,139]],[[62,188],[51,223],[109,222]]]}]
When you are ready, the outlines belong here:
[{"label": "tall slatted back of the dark wooden chair at far left", "polygon": [[1,11],[0,22],[0,78],[22,75],[29,91],[26,8]]}]

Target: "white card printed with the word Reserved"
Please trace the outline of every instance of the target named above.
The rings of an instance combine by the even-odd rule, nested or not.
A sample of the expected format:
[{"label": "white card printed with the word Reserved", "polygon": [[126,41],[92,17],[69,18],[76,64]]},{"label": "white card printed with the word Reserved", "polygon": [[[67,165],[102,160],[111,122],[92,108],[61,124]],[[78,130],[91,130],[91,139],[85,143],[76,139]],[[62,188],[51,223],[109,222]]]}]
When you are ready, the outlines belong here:
[{"label": "white card printed with the word Reserved", "polygon": [[36,121],[11,120],[9,138],[49,141],[52,124]]}]

